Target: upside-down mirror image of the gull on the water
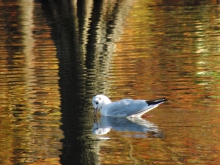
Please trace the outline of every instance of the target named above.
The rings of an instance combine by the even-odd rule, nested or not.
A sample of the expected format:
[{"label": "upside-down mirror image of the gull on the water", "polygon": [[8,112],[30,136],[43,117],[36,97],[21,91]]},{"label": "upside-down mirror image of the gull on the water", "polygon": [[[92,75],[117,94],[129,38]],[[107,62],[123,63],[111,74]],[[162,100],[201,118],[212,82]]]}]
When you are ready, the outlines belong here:
[{"label": "upside-down mirror image of the gull on the water", "polygon": [[[142,118],[127,119],[101,116],[99,122],[94,122],[92,132],[96,135],[105,135],[110,132],[111,129],[118,132],[135,132],[136,134],[130,134],[130,136],[136,138],[145,138],[149,136],[158,138],[163,137],[162,132],[155,124]],[[138,132],[140,134],[138,134]],[[105,137],[105,139],[106,138],[108,137]]]}]

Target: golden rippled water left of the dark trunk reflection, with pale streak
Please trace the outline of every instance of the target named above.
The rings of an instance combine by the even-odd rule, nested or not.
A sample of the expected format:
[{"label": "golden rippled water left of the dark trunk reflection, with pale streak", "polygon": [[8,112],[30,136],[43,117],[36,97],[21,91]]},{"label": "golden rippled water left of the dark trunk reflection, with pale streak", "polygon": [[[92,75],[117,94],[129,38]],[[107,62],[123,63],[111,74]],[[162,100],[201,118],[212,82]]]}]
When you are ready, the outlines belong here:
[{"label": "golden rippled water left of the dark trunk reflection, with pale streak", "polygon": [[62,131],[56,49],[49,30],[33,34],[45,29],[33,15],[34,2],[8,7],[15,6],[18,10],[1,22],[1,29],[11,30],[0,31],[0,164],[58,159]]}]

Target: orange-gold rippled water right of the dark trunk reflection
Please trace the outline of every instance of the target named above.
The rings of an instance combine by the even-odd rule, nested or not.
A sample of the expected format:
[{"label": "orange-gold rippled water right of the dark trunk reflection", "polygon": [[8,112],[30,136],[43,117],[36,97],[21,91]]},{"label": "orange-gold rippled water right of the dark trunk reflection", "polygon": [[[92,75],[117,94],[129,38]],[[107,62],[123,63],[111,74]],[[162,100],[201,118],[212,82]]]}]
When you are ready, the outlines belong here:
[{"label": "orange-gold rippled water right of the dark trunk reflection", "polygon": [[105,93],[112,100],[167,97],[149,113],[165,137],[136,139],[110,132],[110,140],[100,142],[104,164],[220,161],[219,7],[212,6],[213,11],[184,2],[140,0],[133,5],[116,43]]}]

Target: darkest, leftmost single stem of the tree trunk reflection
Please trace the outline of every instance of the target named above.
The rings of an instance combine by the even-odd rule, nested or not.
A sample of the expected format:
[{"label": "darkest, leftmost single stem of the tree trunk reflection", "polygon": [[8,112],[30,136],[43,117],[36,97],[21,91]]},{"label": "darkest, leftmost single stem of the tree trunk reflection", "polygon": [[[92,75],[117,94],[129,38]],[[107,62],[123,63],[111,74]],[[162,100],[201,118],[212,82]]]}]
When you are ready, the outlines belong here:
[{"label": "darkest, leftmost single stem of the tree trunk reflection", "polygon": [[[61,164],[81,164],[95,162],[92,140],[84,139],[84,132],[92,124],[89,114],[90,96],[86,96],[83,60],[78,42],[78,29],[74,8],[64,3],[43,3],[43,9],[52,19],[53,38],[57,43],[59,59],[59,86],[61,94],[62,127],[65,138]],[[50,18],[53,13],[53,18]],[[85,117],[84,116],[87,116]],[[86,128],[88,126],[88,128]],[[88,133],[87,133],[88,134]],[[88,150],[91,148],[91,150]],[[84,153],[87,153],[86,156]]]}]

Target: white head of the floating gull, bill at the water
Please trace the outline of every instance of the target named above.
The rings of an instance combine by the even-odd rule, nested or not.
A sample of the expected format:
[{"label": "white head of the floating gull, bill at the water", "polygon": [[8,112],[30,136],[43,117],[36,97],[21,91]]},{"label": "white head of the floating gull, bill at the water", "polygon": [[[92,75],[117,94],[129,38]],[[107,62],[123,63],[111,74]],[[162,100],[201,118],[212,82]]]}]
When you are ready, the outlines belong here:
[{"label": "white head of the floating gull, bill at the water", "polygon": [[95,114],[97,113],[98,110],[100,110],[102,107],[104,107],[105,105],[111,103],[111,101],[109,100],[109,98],[105,95],[96,95],[95,97],[93,97],[92,99],[92,105],[95,109]]}]

